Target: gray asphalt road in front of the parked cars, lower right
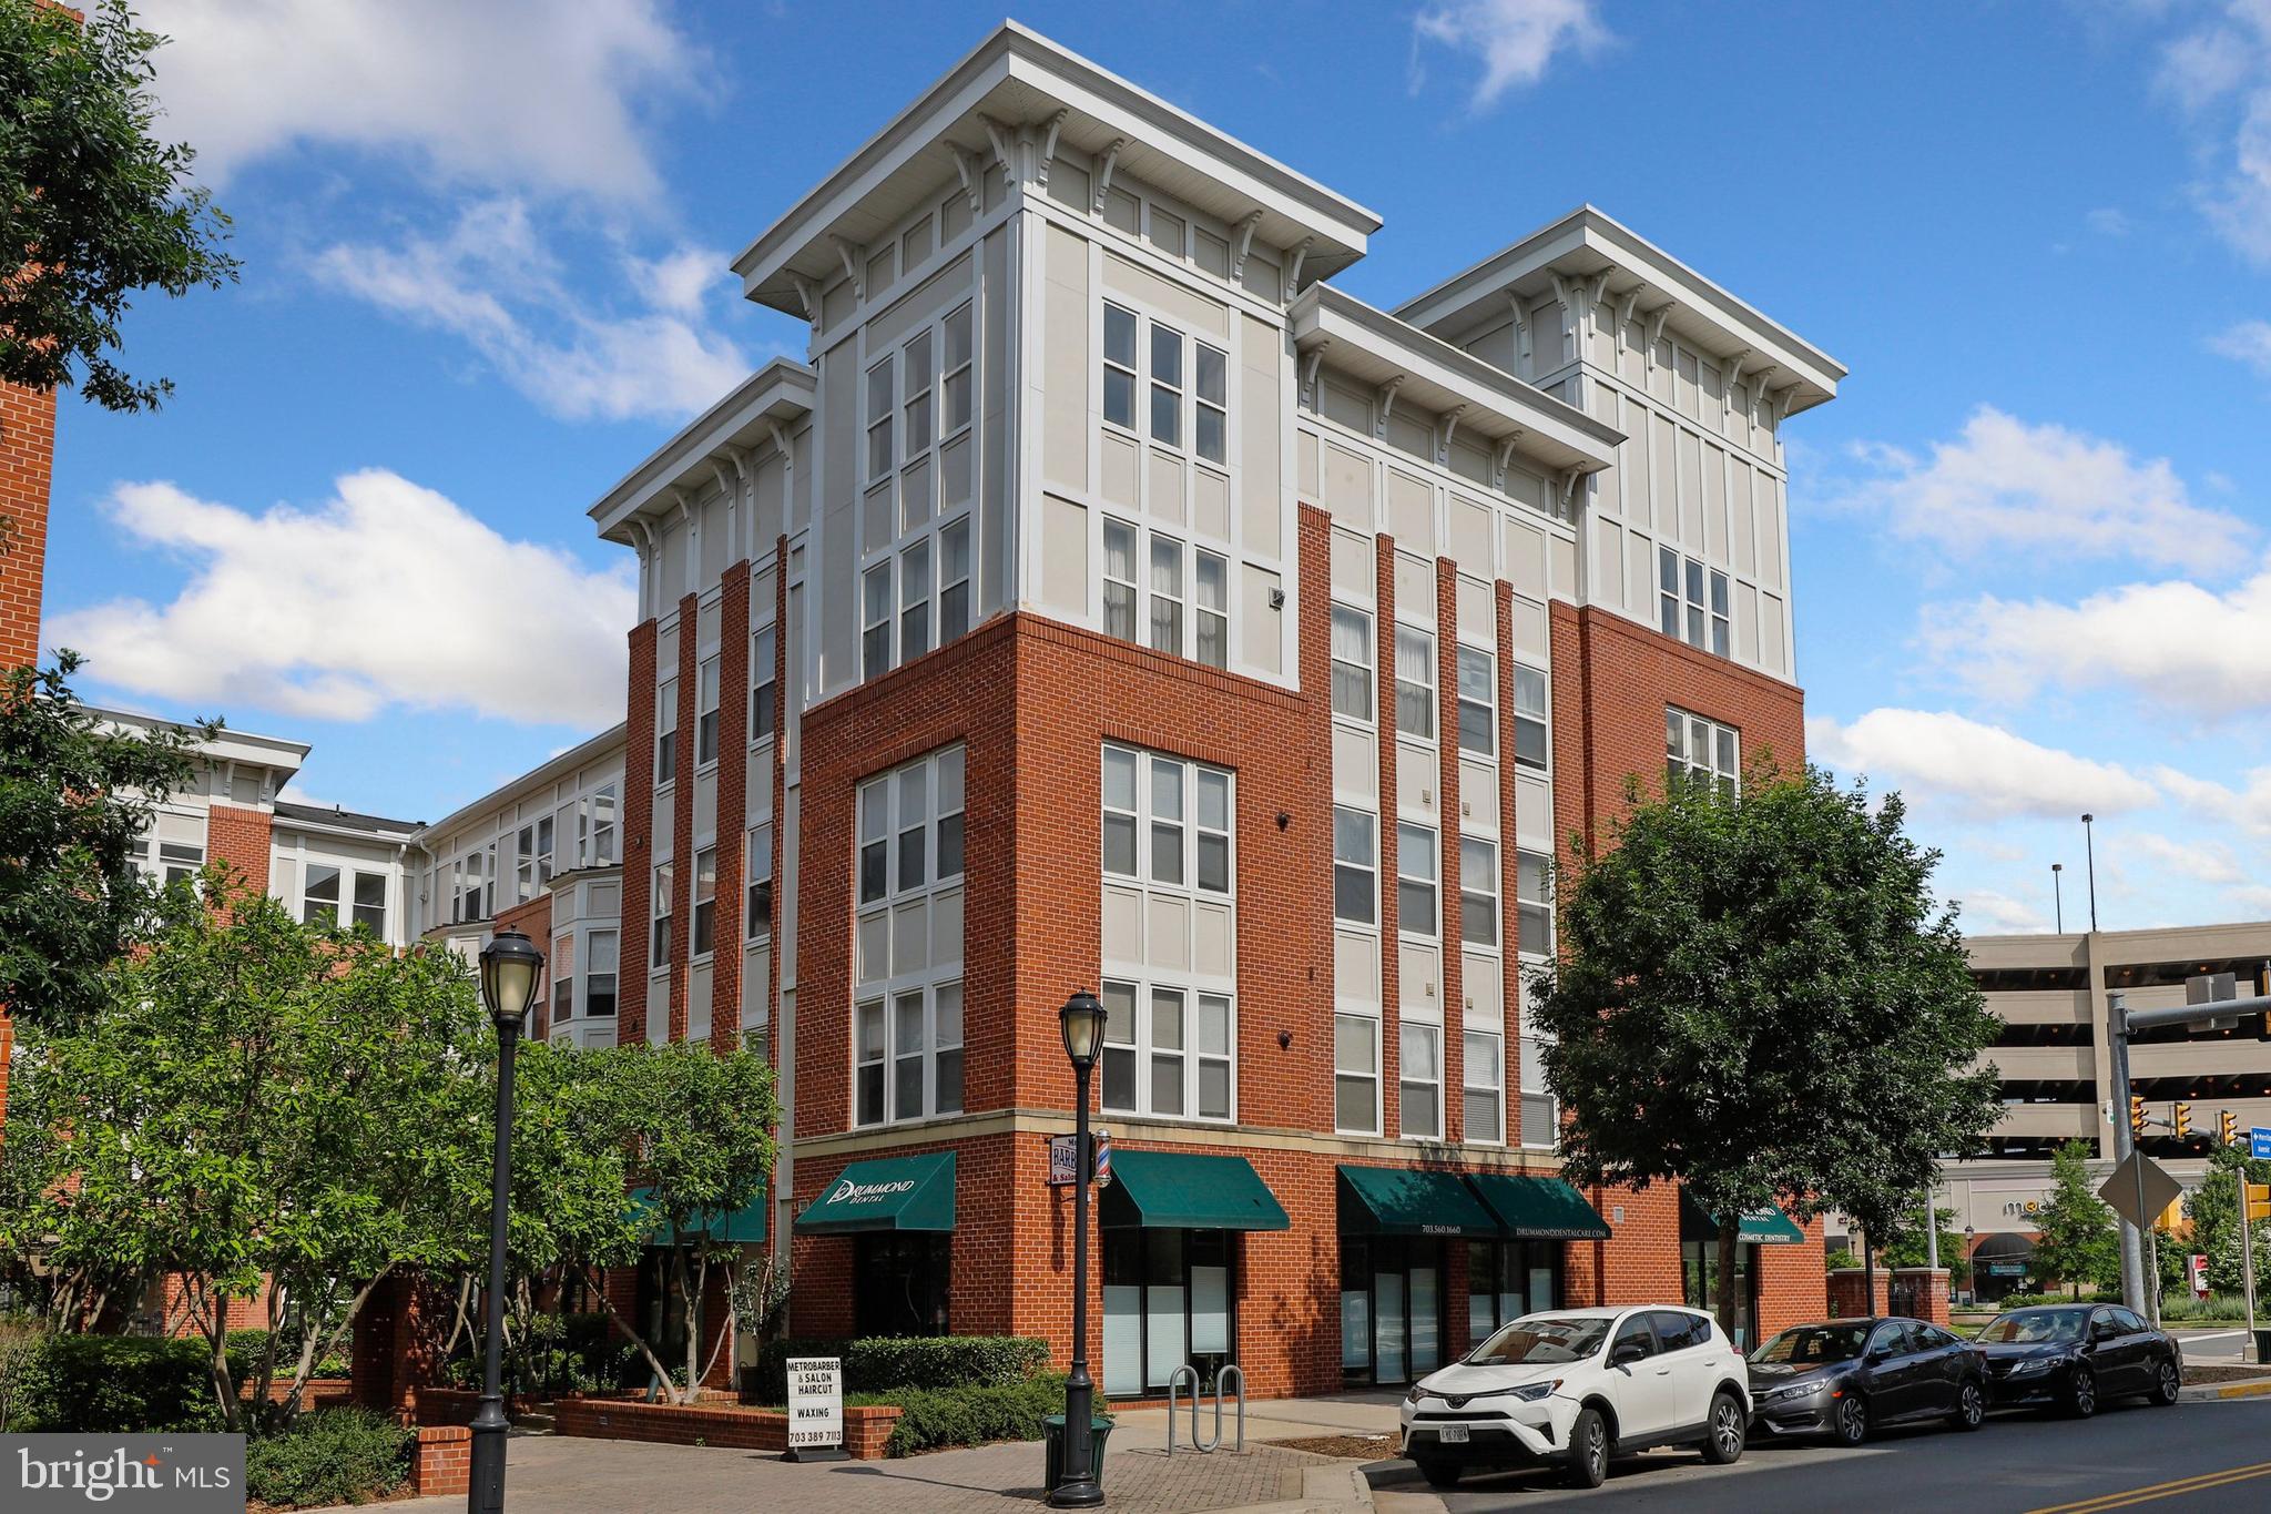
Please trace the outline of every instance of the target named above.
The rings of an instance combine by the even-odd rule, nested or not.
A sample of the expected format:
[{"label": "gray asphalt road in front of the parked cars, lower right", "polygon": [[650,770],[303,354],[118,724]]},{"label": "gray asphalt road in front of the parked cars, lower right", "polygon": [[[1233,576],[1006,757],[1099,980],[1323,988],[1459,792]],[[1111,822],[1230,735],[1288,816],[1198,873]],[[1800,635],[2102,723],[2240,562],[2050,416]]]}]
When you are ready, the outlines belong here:
[{"label": "gray asphalt road in front of the parked cars, lower right", "polygon": [[[1603,1487],[1572,1491],[1551,1473],[1467,1473],[1433,1494],[1410,1462],[1367,1469],[1392,1505],[1451,1514],[1503,1509],[1964,1509],[1964,1514],[2101,1514],[2139,1507],[2221,1514],[2271,1509],[2271,1398],[2117,1405],[2096,1419],[1996,1414],[1978,1435],[1889,1430],[1860,1450],[1753,1444],[1735,1466],[1660,1450],[1621,1460]],[[1383,1505],[1388,1507],[1388,1505]]]}]

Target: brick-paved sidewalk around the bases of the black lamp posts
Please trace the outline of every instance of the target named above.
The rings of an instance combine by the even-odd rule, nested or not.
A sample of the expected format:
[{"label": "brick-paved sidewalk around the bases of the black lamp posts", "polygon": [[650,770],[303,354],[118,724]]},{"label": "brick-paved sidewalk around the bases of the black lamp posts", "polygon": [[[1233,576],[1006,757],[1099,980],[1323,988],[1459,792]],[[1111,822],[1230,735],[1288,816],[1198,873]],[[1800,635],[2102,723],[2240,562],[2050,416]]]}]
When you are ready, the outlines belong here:
[{"label": "brick-paved sidewalk around the bases of the black lamp posts", "polygon": [[[1106,1453],[1104,1491],[1120,1514],[1197,1514],[1301,1498],[1301,1473],[1331,1457],[1279,1446],[1245,1455],[1165,1455],[1151,1446]],[[1015,1441],[938,1450],[895,1462],[790,1464],[749,1450],[654,1446],[550,1435],[513,1437],[506,1496],[543,1514],[618,1514],[668,1507],[672,1514],[745,1514],[783,1507],[797,1514],[1020,1514],[1040,1509],[1040,1444]],[[366,1505],[372,1507],[372,1505]],[[391,1509],[463,1507],[463,1498],[418,1498]]]}]

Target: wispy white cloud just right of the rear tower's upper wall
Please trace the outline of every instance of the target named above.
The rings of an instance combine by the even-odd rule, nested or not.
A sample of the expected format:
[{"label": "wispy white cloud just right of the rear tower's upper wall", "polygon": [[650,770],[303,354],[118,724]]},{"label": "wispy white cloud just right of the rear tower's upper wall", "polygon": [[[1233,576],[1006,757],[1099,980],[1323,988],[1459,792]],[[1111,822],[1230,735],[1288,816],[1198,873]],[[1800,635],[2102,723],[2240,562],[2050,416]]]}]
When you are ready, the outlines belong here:
[{"label": "wispy white cloud just right of the rear tower's upper wall", "polygon": [[2251,527],[2192,504],[2167,459],[2135,459],[2060,424],[2028,424],[1983,404],[1930,456],[1864,445],[1878,477],[1833,504],[1880,513],[1894,533],[1971,556],[2028,547],[2055,556],[2123,556],[2210,572],[2228,567]]}]

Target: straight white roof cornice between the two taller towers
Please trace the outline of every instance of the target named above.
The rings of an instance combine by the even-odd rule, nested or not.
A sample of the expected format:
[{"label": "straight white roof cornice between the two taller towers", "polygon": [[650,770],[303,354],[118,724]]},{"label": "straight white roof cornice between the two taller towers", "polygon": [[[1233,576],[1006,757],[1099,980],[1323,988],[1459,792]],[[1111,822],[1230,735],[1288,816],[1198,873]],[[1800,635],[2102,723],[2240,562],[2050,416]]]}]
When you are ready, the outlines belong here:
[{"label": "straight white roof cornice between the two taller towers", "polygon": [[1438,415],[1465,406],[1463,434],[1510,440],[1551,472],[1599,472],[1617,461],[1624,431],[1331,284],[1310,284],[1288,316],[1304,354],[1324,347],[1326,361],[1369,381],[1392,370],[1403,379],[1401,402]]}]

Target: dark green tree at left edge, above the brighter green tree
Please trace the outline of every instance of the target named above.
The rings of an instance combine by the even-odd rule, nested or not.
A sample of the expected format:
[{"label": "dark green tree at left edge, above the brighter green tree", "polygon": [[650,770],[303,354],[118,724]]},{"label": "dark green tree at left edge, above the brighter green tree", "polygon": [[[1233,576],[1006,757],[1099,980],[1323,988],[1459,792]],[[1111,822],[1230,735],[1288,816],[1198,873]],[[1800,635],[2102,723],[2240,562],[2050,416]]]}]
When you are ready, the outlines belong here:
[{"label": "dark green tree at left edge, above the brighter green tree", "polygon": [[193,779],[195,742],[218,731],[111,731],[70,697],[77,667],[61,651],[0,681],[0,1010],[66,1031],[95,1017],[104,974],[148,926],[134,851],[152,804]]}]

